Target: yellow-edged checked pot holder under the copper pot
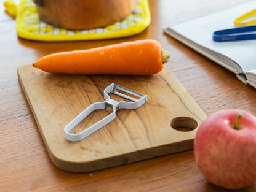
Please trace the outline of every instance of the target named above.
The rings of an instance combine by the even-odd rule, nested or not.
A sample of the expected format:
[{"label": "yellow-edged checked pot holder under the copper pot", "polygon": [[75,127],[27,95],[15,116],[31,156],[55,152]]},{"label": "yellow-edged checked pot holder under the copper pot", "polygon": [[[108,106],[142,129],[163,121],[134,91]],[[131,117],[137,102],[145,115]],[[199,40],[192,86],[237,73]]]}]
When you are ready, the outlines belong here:
[{"label": "yellow-edged checked pot holder under the copper pot", "polygon": [[[24,39],[39,41],[74,41],[114,39],[132,36],[142,32],[150,25],[150,9],[148,0],[138,0],[137,7],[124,20],[104,28],[70,30],[57,28],[39,20],[36,6],[32,0],[22,0],[16,6],[11,0],[7,1],[6,10],[11,13],[17,9],[16,29],[18,36]],[[5,2],[6,3],[6,2]]]}]

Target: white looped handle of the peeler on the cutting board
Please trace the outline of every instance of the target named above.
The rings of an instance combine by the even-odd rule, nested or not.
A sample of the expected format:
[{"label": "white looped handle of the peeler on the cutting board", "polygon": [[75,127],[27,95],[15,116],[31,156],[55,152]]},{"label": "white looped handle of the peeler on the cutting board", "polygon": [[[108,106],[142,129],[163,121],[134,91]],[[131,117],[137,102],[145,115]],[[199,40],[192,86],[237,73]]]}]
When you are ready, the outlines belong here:
[{"label": "white looped handle of the peeler on the cutting board", "polygon": [[[108,101],[108,100],[106,100]],[[110,121],[114,120],[116,118],[116,106],[113,106],[113,112],[110,113],[110,115],[106,116],[102,120],[98,121],[94,125],[90,126],[89,128],[85,129],[84,131],[81,131],[79,133],[73,134],[70,133],[70,131],[78,125],[84,118],[86,118],[90,113],[92,113],[94,110],[98,109],[105,109],[106,108],[106,101],[104,102],[95,102],[94,104],[91,104],[89,107],[87,107],[83,112],[81,112],[74,120],[72,120],[68,125],[65,126],[65,138],[67,140],[76,142],[79,140],[82,140],[86,137],[88,137],[90,134],[94,133],[98,129],[102,128],[106,124],[110,123]]]}]

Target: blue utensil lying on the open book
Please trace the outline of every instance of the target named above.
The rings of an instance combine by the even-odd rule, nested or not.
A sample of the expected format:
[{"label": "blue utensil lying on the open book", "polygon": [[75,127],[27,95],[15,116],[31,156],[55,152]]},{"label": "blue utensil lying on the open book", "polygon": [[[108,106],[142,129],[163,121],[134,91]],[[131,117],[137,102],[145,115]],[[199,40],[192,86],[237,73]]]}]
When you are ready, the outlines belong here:
[{"label": "blue utensil lying on the open book", "polygon": [[256,25],[224,29],[212,34],[212,40],[215,42],[252,39],[256,39]]}]

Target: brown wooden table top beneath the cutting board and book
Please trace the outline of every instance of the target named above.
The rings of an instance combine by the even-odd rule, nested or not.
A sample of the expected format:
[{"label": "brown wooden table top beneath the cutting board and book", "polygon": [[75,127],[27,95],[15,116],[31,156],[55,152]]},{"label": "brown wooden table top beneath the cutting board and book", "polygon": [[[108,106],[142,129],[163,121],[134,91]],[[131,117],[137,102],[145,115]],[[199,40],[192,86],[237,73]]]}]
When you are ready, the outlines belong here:
[{"label": "brown wooden table top beneath the cutting board and book", "polygon": [[[193,150],[81,174],[58,169],[47,153],[16,69],[49,53],[156,39],[170,52],[167,66],[207,116],[228,108],[256,115],[254,88],[162,32],[169,25],[244,0],[149,0],[151,25],[140,34],[114,40],[50,43],[17,37],[15,20],[5,12],[4,1],[0,2],[0,191],[227,191],[204,179]],[[256,191],[256,183],[241,191]]]}]

